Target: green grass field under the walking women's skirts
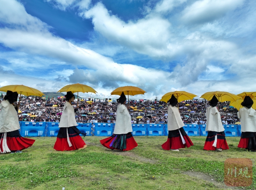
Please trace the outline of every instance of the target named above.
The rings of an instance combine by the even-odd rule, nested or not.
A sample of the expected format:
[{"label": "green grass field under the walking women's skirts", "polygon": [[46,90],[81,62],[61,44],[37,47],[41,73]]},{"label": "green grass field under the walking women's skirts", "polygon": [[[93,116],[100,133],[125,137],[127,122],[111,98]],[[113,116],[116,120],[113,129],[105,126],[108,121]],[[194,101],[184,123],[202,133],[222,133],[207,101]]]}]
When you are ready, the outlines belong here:
[{"label": "green grass field under the walking women's skirts", "polygon": [[38,137],[23,153],[0,155],[0,189],[235,189],[224,185],[227,158],[251,158],[256,189],[256,152],[237,148],[239,137],[226,137],[229,150],[203,151],[206,137],[190,137],[194,146],[180,152],[162,149],[167,137],[134,137],[138,147],[103,147],[105,137],[85,137],[80,151],[57,152],[56,137]]}]

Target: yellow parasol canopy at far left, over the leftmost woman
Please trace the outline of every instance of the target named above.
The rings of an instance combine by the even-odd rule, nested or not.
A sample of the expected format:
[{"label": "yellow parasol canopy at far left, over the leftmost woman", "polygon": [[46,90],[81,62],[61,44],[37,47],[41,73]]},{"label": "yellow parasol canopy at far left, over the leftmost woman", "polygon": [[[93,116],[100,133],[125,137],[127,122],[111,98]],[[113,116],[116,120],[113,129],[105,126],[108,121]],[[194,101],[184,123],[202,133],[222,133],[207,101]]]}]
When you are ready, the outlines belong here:
[{"label": "yellow parasol canopy at far left, over the leftmost woman", "polygon": [[43,96],[43,92],[24,85],[8,85],[0,88],[0,91],[7,92],[8,90],[18,92],[25,96]]}]

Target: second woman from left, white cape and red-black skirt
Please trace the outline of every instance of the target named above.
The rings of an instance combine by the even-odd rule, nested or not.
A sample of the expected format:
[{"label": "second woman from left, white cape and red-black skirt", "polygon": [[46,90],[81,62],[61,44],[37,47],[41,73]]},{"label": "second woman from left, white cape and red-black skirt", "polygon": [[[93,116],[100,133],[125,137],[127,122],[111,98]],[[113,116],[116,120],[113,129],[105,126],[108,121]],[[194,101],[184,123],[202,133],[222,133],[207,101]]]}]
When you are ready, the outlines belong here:
[{"label": "second woman from left, white cape and red-black skirt", "polygon": [[[69,91],[65,95],[66,102],[63,106],[63,111],[61,115],[61,120],[59,124],[59,132],[57,135],[57,140],[54,144],[54,149],[56,151],[74,151],[80,150],[87,147],[84,140],[80,137],[80,130],[77,129],[75,112],[71,103],[75,99],[75,95]],[[83,134],[83,133],[82,133]],[[85,135],[85,134],[83,134]]]}]

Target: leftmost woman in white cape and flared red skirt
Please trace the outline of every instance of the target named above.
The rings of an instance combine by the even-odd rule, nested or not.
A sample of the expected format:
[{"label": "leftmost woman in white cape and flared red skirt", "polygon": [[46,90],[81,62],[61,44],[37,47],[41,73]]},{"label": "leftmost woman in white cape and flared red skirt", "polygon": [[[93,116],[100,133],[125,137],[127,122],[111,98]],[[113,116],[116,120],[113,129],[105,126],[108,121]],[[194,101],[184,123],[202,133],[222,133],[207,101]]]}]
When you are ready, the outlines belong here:
[{"label": "leftmost woman in white cape and flared red skirt", "polygon": [[21,153],[21,150],[35,142],[33,139],[20,136],[19,119],[13,105],[17,99],[18,93],[8,90],[0,104],[0,153]]}]

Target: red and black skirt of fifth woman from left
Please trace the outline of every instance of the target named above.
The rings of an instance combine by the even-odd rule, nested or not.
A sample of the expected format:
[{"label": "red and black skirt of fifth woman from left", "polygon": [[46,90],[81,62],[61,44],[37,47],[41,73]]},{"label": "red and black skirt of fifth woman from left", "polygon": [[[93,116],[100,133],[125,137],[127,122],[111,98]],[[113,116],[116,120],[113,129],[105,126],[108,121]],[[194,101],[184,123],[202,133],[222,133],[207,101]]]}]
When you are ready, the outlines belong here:
[{"label": "red and black skirt of fifth woman from left", "polygon": [[216,147],[213,147],[215,135],[207,136],[206,141],[204,143],[204,150],[215,151],[216,148],[229,149],[228,143],[225,138],[225,134],[220,134],[220,133],[222,133],[222,132],[217,133]]}]

